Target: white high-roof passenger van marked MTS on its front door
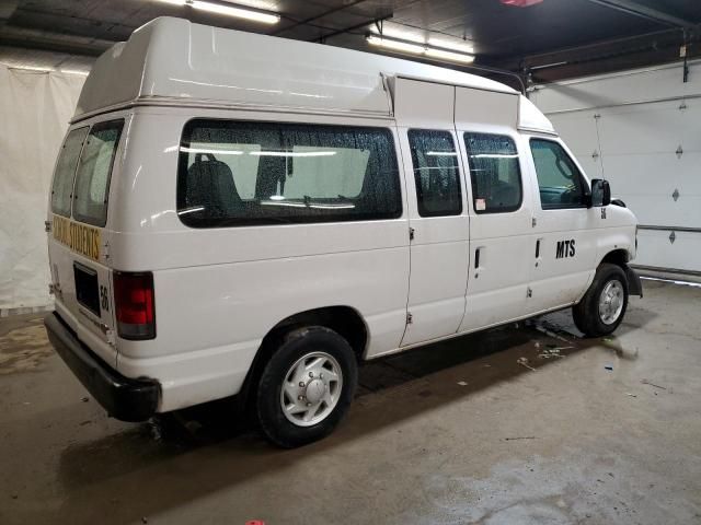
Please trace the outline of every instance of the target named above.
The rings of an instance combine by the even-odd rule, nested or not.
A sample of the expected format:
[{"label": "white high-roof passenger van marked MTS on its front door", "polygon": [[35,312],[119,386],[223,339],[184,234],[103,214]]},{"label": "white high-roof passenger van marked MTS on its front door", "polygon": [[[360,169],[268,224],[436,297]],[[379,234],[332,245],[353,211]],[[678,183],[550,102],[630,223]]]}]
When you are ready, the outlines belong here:
[{"label": "white high-roof passenger van marked MTS on its front door", "polygon": [[47,230],[50,340],[110,415],[238,394],[280,446],[361,360],[565,307],[610,334],[641,294],[635,217],[519,93],[177,19],[95,63]]}]

